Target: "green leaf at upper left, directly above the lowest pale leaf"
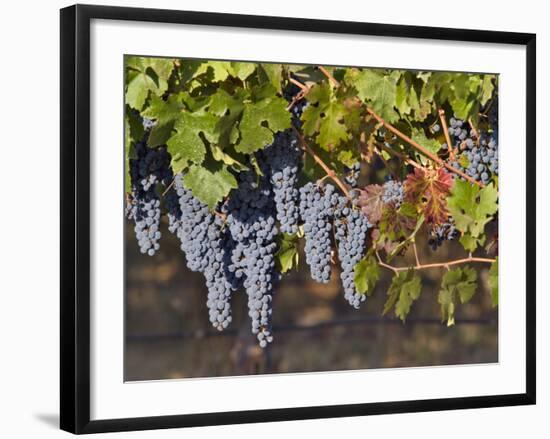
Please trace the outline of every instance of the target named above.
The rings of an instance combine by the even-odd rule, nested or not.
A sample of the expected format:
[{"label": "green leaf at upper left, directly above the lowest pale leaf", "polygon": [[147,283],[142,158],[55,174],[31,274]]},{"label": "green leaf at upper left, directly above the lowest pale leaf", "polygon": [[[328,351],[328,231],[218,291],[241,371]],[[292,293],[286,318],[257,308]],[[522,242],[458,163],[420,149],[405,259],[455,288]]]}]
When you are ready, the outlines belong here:
[{"label": "green leaf at upper left, directly above the lowest pale leaf", "polygon": [[210,113],[180,113],[174,125],[176,133],[166,142],[175,174],[183,171],[190,163],[203,162],[206,147],[201,135],[214,142],[217,120],[218,118]]}]

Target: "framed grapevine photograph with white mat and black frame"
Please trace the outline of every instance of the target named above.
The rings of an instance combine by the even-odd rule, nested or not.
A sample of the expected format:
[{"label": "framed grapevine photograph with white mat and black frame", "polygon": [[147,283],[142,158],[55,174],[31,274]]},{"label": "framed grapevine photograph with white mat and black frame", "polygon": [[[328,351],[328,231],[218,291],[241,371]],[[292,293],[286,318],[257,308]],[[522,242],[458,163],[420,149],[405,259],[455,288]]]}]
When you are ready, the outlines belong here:
[{"label": "framed grapevine photograph with white mat and black frame", "polygon": [[61,428],[535,403],[535,35],[61,10]]}]

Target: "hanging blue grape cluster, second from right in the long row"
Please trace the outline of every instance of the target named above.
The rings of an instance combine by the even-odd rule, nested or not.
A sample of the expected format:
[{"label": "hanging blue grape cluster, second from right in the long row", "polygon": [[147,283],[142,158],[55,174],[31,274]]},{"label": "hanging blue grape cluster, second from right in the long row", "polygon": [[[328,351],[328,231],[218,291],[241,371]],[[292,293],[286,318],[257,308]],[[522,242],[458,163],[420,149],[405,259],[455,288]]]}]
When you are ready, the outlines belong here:
[{"label": "hanging blue grape cluster, second from right in the long row", "polygon": [[337,201],[338,194],[330,184],[321,188],[310,182],[300,188],[300,215],[304,221],[306,262],[310,267],[311,278],[317,282],[328,283],[330,280],[330,231]]}]

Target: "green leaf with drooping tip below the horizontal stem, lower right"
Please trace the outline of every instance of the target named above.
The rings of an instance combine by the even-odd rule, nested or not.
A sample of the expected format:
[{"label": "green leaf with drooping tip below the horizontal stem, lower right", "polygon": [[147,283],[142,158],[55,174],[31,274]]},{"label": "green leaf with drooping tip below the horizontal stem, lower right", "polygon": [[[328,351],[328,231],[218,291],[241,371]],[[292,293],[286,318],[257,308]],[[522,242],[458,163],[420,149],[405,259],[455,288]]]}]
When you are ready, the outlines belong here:
[{"label": "green leaf with drooping tip below the horizontal stem, lower right", "polygon": [[455,323],[456,302],[467,303],[476,292],[477,272],[470,267],[447,271],[441,281],[437,301],[441,306],[441,319],[447,326]]}]

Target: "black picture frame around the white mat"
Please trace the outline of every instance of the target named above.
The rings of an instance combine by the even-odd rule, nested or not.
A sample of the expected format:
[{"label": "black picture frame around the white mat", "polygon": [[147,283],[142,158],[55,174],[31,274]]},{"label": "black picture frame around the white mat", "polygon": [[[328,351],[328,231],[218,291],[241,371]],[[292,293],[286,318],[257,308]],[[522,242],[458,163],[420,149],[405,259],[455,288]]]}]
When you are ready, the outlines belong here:
[{"label": "black picture frame around the white mat", "polygon": [[[415,401],[90,420],[90,21],[131,20],[454,40],[526,47],[526,392]],[[536,35],[288,17],[75,5],[61,10],[61,404],[63,430],[99,433],[535,404]]]}]

